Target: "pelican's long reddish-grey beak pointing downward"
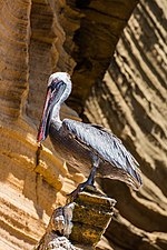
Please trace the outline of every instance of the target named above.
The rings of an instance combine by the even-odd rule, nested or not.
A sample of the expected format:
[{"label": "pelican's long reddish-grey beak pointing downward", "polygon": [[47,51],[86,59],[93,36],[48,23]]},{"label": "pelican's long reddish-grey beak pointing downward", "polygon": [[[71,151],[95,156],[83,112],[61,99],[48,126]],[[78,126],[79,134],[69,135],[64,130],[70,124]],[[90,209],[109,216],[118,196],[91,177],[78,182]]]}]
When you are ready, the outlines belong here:
[{"label": "pelican's long reddish-grey beak pointing downward", "polygon": [[49,133],[49,124],[50,124],[50,98],[51,98],[51,89],[48,88],[46,102],[43,107],[42,118],[38,130],[37,142],[43,141]]}]

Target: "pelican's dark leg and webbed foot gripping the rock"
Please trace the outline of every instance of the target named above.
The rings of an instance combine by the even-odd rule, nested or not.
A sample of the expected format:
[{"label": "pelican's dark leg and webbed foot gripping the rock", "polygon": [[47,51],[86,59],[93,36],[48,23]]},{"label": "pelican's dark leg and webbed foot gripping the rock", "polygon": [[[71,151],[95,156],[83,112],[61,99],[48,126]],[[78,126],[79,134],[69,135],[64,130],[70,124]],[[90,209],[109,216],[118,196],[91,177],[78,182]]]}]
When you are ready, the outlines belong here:
[{"label": "pelican's dark leg and webbed foot gripping the rock", "polygon": [[87,186],[92,186],[94,188],[96,188],[94,186],[94,178],[96,176],[96,170],[97,170],[98,166],[99,166],[99,159],[96,157],[96,159],[94,160],[94,163],[92,163],[92,170],[91,170],[88,179],[85,182],[78,184],[77,189],[75,189],[70,194],[68,194],[71,200],[75,200],[77,198],[77,194],[79,192],[82,192]]}]

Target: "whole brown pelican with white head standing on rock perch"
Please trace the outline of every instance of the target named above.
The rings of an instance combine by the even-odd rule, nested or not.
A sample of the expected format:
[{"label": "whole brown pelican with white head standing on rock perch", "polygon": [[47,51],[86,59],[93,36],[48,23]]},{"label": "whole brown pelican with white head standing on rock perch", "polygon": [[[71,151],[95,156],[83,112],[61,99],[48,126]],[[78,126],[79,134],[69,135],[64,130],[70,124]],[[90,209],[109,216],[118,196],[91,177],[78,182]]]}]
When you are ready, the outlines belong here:
[{"label": "whole brown pelican with white head standing on rock perch", "polygon": [[70,92],[68,73],[57,72],[50,76],[37,141],[43,141],[49,134],[62,160],[82,172],[88,167],[91,169],[87,181],[80,183],[71,196],[75,198],[86,186],[94,186],[96,172],[124,181],[137,190],[141,186],[138,162],[116,136],[98,124],[60,120],[60,106]]}]

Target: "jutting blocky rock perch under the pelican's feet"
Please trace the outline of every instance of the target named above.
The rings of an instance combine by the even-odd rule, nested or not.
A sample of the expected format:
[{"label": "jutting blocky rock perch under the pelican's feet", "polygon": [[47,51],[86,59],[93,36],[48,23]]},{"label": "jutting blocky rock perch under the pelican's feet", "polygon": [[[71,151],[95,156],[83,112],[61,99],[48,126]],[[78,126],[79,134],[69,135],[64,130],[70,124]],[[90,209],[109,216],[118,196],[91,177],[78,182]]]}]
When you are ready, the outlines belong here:
[{"label": "jutting blocky rock perch under the pelican's feet", "polygon": [[55,209],[46,233],[35,249],[95,249],[111,220],[115,203],[114,199],[97,191],[79,193],[75,201]]}]

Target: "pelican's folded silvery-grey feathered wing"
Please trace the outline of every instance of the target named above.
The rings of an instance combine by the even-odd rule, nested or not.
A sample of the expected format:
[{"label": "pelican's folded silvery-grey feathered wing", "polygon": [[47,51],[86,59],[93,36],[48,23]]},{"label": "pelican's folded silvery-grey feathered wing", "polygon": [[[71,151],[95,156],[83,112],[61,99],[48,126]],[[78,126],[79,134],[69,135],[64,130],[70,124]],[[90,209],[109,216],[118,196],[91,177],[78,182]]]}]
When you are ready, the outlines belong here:
[{"label": "pelican's folded silvery-grey feathered wing", "polygon": [[121,140],[100,126],[88,124],[70,119],[62,121],[63,129],[70,133],[82,147],[89,148],[100,159],[114,167],[125,170],[141,184],[138,162],[124,147]]}]

